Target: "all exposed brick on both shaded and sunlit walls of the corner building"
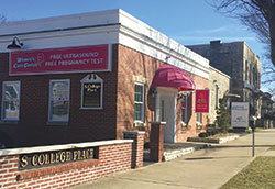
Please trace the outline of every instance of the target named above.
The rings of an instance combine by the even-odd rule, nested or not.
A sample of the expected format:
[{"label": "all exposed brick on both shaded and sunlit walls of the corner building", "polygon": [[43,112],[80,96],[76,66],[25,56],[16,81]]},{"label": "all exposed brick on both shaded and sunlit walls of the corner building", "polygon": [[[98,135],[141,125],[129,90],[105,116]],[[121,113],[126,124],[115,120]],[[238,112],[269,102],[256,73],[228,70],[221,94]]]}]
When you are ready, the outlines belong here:
[{"label": "all exposed brick on both shaded and sunlit walls of the corner building", "polygon": [[[74,142],[123,138],[123,131],[145,131],[150,138],[151,121],[155,121],[155,98],[150,94],[152,80],[164,62],[131,49],[120,44],[112,45],[112,70],[95,73],[103,79],[103,109],[80,110],[81,84],[87,74],[55,74],[38,76],[9,76],[9,54],[0,54],[0,81],[20,80],[20,120],[0,122],[0,134],[6,136],[7,147],[65,144]],[[190,75],[196,89],[208,88],[208,80]],[[51,79],[70,80],[69,122],[48,123],[48,93]],[[134,125],[134,85],[144,82],[144,124]],[[178,110],[177,142],[186,141],[201,131],[196,125],[195,94],[189,107],[189,122],[182,125]],[[2,99],[2,87],[0,88]],[[177,104],[180,104],[179,101]],[[2,103],[0,103],[1,109]],[[202,114],[202,125],[207,115]],[[51,136],[51,137],[50,137]],[[3,137],[2,137],[3,138]]]}]

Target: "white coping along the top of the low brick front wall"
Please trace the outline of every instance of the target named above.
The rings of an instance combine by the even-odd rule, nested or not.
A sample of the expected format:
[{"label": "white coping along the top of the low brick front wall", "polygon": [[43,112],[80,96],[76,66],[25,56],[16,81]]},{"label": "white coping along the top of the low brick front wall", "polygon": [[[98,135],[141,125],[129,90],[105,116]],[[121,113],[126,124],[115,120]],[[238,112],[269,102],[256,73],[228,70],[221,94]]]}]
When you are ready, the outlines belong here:
[{"label": "white coping along the top of the low brick front wall", "polygon": [[30,154],[36,152],[51,152],[51,151],[62,151],[62,149],[72,149],[80,147],[97,147],[106,145],[116,145],[123,143],[133,143],[133,140],[110,140],[110,141],[98,141],[98,142],[88,142],[88,143],[72,143],[63,145],[50,145],[50,146],[37,146],[37,147],[22,147],[22,148],[12,148],[12,149],[1,149],[1,156],[19,155],[19,154]]}]

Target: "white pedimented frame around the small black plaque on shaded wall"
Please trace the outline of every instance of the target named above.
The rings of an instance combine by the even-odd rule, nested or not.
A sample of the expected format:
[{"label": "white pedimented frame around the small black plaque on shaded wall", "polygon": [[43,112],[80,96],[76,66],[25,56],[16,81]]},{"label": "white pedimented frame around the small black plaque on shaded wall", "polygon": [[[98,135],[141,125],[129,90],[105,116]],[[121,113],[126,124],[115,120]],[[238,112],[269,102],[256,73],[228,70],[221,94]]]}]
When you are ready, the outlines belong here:
[{"label": "white pedimented frame around the small black plaque on shaded wall", "polygon": [[[94,79],[94,77],[96,79]],[[80,110],[102,110],[103,109],[103,79],[100,78],[98,75],[96,74],[90,74],[90,75],[87,75],[85,78],[82,78],[80,80],[81,82],[81,102],[80,102]],[[98,84],[100,82],[101,85],[101,88],[100,88],[100,107],[82,107],[84,104],[84,84]]]}]

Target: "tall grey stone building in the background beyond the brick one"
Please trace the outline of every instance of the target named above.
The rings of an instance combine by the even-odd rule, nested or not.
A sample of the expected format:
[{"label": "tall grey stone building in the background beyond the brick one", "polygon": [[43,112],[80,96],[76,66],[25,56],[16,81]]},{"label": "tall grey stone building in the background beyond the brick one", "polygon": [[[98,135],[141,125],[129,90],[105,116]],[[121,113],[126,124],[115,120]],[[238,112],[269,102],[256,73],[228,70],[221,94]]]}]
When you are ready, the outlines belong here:
[{"label": "tall grey stone building in the background beyond the brick one", "polygon": [[210,60],[210,65],[231,77],[230,93],[238,94],[232,101],[250,102],[261,116],[261,60],[245,42],[187,46]]}]

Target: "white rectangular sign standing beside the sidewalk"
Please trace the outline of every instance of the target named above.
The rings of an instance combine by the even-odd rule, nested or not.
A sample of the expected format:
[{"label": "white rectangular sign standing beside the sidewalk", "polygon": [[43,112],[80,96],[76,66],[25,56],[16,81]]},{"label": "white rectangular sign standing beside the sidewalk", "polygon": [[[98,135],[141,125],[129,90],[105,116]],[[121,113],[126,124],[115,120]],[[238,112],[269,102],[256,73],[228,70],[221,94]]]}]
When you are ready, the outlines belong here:
[{"label": "white rectangular sign standing beside the sidewalk", "polygon": [[231,125],[233,127],[249,126],[249,102],[232,102],[231,104]]}]

